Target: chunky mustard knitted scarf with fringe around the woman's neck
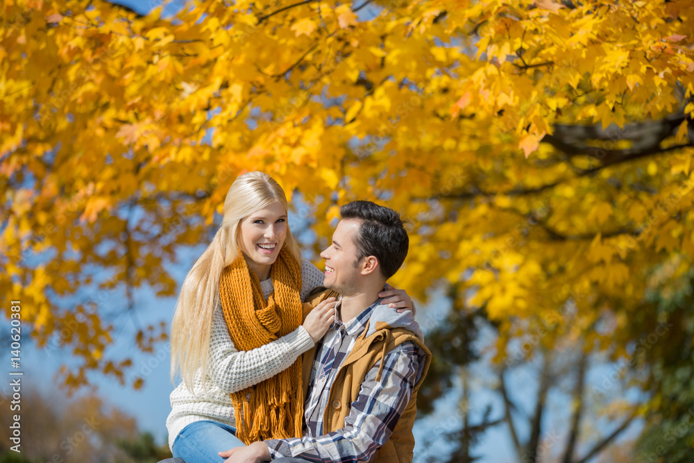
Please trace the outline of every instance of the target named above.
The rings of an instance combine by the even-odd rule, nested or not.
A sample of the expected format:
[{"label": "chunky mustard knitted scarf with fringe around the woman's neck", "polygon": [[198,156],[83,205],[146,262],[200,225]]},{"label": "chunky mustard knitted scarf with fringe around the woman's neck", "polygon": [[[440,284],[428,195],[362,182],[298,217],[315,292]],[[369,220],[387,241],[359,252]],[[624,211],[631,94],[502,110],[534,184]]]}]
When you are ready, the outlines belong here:
[{"label": "chunky mustard knitted scarf with fringe around the woman's neck", "polygon": [[[270,276],[275,288],[267,298],[255,272],[239,257],[219,278],[219,296],[234,346],[239,351],[264,346],[296,330],[302,321],[301,268],[285,248],[280,249]],[[264,439],[301,437],[303,387],[301,355],[276,376],[230,394],[237,437],[246,445]]]}]

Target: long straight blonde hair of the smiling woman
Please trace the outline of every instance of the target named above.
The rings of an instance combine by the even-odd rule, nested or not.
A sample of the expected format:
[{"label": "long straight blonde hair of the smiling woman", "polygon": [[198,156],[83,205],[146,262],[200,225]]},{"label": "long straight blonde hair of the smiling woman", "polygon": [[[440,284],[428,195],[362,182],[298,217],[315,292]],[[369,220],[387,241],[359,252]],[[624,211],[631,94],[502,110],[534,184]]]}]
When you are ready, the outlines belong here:
[{"label": "long straight blonde hair of the smiling woman", "polygon": [[[198,367],[205,384],[212,315],[219,303],[219,278],[223,269],[238,257],[239,225],[242,219],[273,203],[282,203],[288,210],[285,191],[271,176],[263,172],[239,176],[226,194],[219,230],[183,280],[171,322],[171,381],[180,369],[180,376],[190,391]],[[301,264],[289,226],[283,246]]]}]

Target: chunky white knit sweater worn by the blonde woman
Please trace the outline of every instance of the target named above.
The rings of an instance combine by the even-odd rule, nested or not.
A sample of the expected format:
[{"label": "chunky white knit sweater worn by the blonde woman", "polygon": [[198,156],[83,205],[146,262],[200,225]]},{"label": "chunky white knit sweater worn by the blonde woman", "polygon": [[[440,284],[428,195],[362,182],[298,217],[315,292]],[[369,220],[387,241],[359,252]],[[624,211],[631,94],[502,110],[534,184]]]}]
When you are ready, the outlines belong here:
[{"label": "chunky white knit sweater worn by the blonde woman", "polygon": [[[316,286],[323,285],[323,272],[314,264],[301,262],[301,300]],[[272,280],[260,282],[262,293],[267,300],[273,292]],[[178,433],[190,423],[201,420],[214,420],[236,427],[234,405],[229,394],[272,378],[294,363],[296,358],[314,345],[313,339],[303,326],[276,341],[253,351],[237,351],[229,336],[224,321],[221,303],[214,309],[212,334],[210,337],[210,357],[205,376],[207,395],[205,395],[201,369],[193,380],[193,394],[183,382],[171,392],[171,413],[167,418],[169,448],[174,446]]]}]

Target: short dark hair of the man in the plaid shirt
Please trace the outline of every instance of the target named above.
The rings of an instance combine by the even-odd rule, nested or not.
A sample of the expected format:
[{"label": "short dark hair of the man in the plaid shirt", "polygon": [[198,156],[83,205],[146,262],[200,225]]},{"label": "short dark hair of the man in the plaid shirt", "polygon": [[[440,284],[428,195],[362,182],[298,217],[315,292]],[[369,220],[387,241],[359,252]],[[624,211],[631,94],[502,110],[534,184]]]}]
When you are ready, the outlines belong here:
[{"label": "short dark hair of the man in the plaid shirt", "polygon": [[378,259],[382,276],[386,279],[393,276],[405,261],[409,248],[409,237],[400,214],[371,201],[352,201],[340,208],[340,215],[342,219],[362,221],[354,240],[357,262],[373,255]]}]

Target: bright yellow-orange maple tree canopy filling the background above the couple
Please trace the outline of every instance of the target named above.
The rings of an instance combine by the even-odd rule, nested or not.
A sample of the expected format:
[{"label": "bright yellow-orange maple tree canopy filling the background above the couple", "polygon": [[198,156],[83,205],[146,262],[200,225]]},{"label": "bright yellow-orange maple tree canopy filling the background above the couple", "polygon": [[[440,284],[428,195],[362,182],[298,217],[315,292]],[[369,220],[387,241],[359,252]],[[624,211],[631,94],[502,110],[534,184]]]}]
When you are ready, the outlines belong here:
[{"label": "bright yellow-orange maple tree canopy filling the background above the couple", "polygon": [[35,342],[81,359],[65,384],[123,381],[104,299],[176,294],[165,264],[257,169],[300,194],[315,249],[351,199],[409,217],[393,283],[423,301],[458,285],[498,327],[496,362],[552,317],[548,351],[631,356],[670,317],[646,300],[652,273],[694,255],[693,7],[208,0],[164,19],[5,2],[3,307],[21,298]]}]

